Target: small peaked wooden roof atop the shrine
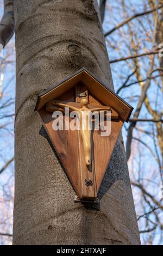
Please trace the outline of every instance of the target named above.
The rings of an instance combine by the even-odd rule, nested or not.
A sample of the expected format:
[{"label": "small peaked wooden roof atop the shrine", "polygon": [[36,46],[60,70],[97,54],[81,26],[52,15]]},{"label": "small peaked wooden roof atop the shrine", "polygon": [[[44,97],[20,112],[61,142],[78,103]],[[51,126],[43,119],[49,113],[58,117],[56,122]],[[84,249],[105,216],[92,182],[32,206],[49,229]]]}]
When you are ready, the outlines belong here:
[{"label": "small peaked wooden roof atop the shrine", "polygon": [[34,111],[39,111],[48,101],[57,99],[62,94],[73,88],[78,82],[83,82],[89,92],[99,99],[105,106],[111,106],[120,115],[123,121],[128,121],[133,107],[131,107],[120,96],[108,89],[102,82],[98,81],[88,70],[82,68],[69,76],[66,80],[56,84],[45,92],[37,95]]}]

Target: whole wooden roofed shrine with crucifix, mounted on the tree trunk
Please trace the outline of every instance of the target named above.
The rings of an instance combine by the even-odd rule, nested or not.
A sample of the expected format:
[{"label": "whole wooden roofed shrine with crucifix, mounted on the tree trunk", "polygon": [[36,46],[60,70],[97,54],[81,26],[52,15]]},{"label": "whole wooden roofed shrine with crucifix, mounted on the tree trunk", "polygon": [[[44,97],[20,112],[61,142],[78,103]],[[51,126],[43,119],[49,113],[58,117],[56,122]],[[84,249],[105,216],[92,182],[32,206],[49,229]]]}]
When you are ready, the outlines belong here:
[{"label": "whole wooden roofed shrine with crucifix, mounted on the tree trunk", "polygon": [[[66,115],[65,107],[68,107],[69,113],[76,112],[79,130],[53,129],[52,113],[55,111],[63,113],[65,124],[70,123],[71,118]],[[39,113],[55,149],[54,153],[57,153],[77,194],[74,202],[98,202],[98,191],[112,151],[123,123],[129,120],[132,110],[126,101],[85,68],[37,96],[35,111]],[[111,115],[111,130],[109,136],[103,137],[100,129],[91,130],[90,126],[96,126],[96,122],[93,122],[98,119],[96,114],[101,112],[105,117],[102,122],[105,126],[107,111]]]}]

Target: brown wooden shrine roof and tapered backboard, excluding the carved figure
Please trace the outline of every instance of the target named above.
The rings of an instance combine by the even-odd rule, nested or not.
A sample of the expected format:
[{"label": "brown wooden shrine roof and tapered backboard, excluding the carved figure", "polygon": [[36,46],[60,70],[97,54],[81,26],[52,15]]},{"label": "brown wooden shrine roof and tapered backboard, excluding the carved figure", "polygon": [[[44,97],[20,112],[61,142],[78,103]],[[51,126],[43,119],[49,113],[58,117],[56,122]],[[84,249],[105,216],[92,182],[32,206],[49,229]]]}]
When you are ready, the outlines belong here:
[{"label": "brown wooden shrine roof and tapered backboard, excluding the carved figure", "polygon": [[[82,96],[80,97],[80,95]],[[84,161],[84,149],[80,132],[77,130],[54,131],[52,128],[54,118],[52,118],[52,113],[46,109],[46,103],[53,99],[79,103],[83,97],[89,100],[90,106],[111,106],[113,109],[110,136],[103,137],[101,131],[92,131],[91,167],[87,167]],[[43,126],[79,199],[90,202],[96,200],[118,135],[133,108],[114,92],[105,88],[87,70],[82,69],[57,87],[39,95],[35,110],[43,121]],[[64,122],[69,123],[70,121],[70,118],[64,117]]]}]

